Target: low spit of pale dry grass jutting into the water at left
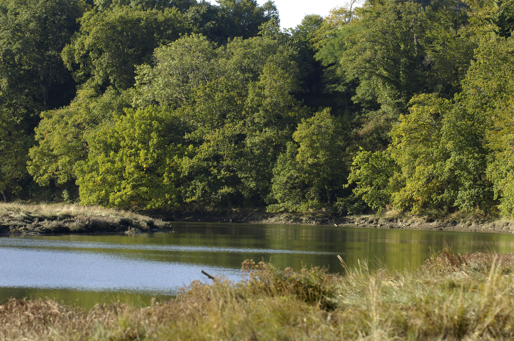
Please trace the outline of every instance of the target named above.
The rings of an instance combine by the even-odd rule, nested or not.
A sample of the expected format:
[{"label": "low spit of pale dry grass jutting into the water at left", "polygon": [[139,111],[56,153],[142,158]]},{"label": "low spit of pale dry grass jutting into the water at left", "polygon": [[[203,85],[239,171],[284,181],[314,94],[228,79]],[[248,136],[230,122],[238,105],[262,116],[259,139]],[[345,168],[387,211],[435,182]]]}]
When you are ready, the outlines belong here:
[{"label": "low spit of pale dry grass jutting into the water at left", "polygon": [[171,223],[97,206],[0,203],[0,233],[108,233],[170,230]]}]

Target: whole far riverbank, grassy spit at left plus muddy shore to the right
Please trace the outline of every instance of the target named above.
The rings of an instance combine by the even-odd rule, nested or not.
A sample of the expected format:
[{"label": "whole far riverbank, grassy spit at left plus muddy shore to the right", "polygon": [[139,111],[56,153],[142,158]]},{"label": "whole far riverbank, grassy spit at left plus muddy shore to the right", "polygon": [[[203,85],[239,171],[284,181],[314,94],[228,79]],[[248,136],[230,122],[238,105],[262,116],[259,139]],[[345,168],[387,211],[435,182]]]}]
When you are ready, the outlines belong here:
[{"label": "whole far riverbank, grassy spit at left plus muddy shore to the right", "polygon": [[173,221],[347,226],[376,229],[514,233],[514,220],[457,212],[447,217],[341,216],[325,210],[269,213],[263,210],[140,212],[76,204],[0,203],[0,233],[106,233],[170,230]]}]

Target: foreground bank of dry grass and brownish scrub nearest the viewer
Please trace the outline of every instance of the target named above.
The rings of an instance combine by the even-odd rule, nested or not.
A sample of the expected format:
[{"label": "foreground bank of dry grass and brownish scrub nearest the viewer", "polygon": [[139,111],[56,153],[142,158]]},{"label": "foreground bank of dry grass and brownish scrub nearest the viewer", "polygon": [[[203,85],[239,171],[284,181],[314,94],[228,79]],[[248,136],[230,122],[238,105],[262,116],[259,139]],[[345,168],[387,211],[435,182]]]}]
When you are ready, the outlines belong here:
[{"label": "foreground bank of dry grass and brownish scrub nearest the viewer", "polygon": [[[342,264],[344,266],[344,264]],[[343,275],[243,263],[246,282],[193,282],[149,307],[90,310],[52,300],[0,306],[0,339],[507,340],[514,337],[514,255],[433,255],[417,270]],[[341,268],[341,271],[344,271]]]}]

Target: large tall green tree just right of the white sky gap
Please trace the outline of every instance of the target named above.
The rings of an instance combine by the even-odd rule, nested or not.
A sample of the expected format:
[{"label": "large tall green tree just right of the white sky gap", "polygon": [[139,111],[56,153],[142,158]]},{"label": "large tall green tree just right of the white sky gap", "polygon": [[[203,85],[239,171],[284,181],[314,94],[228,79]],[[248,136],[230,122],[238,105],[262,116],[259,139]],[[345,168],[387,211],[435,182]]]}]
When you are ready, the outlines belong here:
[{"label": "large tall green tree just right of the white sky gap", "polygon": [[474,44],[463,28],[466,15],[452,4],[366,2],[316,54],[327,67],[326,91],[340,93],[345,108],[352,97],[361,145],[387,146],[387,133],[414,94],[451,98],[460,90]]}]

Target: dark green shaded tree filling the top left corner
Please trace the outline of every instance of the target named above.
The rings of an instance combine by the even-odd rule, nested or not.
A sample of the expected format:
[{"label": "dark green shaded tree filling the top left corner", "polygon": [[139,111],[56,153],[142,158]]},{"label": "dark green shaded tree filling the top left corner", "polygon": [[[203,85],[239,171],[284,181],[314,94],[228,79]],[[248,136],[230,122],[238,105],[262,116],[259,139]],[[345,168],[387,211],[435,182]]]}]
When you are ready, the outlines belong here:
[{"label": "dark green shaded tree filling the top left corner", "polygon": [[52,93],[56,83],[68,82],[69,87],[60,54],[86,8],[81,0],[1,1],[2,88],[17,87],[19,96],[35,99],[43,108],[62,105],[62,93]]}]

